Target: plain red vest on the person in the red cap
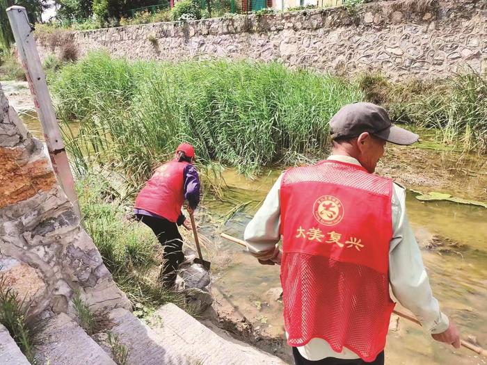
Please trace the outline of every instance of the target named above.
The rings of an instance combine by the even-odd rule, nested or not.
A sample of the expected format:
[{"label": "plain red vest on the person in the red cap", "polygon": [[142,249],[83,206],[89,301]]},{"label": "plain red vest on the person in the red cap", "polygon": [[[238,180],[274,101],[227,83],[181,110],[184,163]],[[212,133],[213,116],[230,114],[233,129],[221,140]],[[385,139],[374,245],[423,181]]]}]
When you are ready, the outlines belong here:
[{"label": "plain red vest on the person in the red cap", "polygon": [[170,161],[159,166],[138,193],[135,208],[176,222],[184,203],[184,168],[187,162]]}]

